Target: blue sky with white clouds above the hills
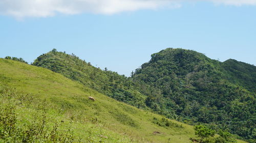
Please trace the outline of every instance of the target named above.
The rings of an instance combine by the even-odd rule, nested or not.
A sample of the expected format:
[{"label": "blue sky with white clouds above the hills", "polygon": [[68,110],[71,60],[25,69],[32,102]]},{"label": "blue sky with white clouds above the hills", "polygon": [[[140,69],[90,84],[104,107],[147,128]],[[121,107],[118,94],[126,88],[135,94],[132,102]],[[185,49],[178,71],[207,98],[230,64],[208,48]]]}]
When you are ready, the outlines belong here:
[{"label": "blue sky with white clouds above the hills", "polygon": [[0,58],[56,48],[130,76],[168,47],[256,65],[256,0],[0,1]]}]

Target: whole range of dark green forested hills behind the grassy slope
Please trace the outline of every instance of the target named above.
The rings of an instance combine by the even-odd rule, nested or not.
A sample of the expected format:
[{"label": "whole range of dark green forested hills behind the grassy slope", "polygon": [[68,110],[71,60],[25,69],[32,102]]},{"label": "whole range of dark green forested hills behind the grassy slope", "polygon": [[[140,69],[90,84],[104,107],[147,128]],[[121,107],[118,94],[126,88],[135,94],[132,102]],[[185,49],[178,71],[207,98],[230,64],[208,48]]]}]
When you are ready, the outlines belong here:
[{"label": "whole range of dark green forested hills behind the grassy slope", "polygon": [[56,49],[40,55],[33,65],[169,119],[208,124],[255,142],[255,66],[173,48],[152,54],[132,77],[103,71]]}]

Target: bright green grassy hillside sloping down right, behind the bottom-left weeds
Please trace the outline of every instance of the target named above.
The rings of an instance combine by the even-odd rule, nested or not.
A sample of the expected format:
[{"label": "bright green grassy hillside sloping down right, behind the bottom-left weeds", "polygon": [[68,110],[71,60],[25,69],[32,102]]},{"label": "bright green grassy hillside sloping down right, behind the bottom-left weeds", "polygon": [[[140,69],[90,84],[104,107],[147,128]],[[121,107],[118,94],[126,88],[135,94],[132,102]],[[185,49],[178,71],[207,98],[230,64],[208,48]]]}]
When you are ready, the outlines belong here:
[{"label": "bright green grassy hillside sloping down right, behind the bottom-left weeds", "polygon": [[[118,102],[48,69],[16,61],[0,59],[0,93],[2,115],[11,112],[17,130],[44,125],[50,139],[58,135],[71,142],[185,143],[196,137],[193,126]],[[41,128],[38,130],[42,134]]]}]

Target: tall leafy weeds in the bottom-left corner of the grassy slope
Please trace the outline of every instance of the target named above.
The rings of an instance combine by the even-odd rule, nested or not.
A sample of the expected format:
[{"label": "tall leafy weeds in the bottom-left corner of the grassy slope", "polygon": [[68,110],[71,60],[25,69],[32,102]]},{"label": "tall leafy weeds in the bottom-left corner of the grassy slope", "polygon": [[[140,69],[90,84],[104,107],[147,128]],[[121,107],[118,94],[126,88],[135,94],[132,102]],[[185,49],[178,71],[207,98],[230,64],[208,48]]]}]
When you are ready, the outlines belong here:
[{"label": "tall leafy weeds in the bottom-left corner of the grassy slope", "polygon": [[46,115],[35,117],[31,123],[17,125],[15,107],[8,105],[0,108],[0,142],[73,142],[74,137],[69,128],[61,132],[58,124],[51,128],[46,123]]}]

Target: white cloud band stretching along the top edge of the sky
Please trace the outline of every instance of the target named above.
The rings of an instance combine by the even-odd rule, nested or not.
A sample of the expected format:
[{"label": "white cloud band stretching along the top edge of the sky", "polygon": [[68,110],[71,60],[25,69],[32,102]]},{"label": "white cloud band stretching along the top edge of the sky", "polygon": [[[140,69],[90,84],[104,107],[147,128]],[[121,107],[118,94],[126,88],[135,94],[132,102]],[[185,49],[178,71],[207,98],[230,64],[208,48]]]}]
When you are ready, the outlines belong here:
[{"label": "white cloud band stretching along the top edge of the sky", "polygon": [[256,5],[256,0],[0,0],[0,14],[16,18],[47,17],[57,13],[114,14],[140,9],[180,7],[181,2],[208,1],[225,5]]}]

